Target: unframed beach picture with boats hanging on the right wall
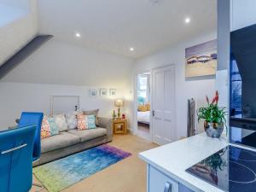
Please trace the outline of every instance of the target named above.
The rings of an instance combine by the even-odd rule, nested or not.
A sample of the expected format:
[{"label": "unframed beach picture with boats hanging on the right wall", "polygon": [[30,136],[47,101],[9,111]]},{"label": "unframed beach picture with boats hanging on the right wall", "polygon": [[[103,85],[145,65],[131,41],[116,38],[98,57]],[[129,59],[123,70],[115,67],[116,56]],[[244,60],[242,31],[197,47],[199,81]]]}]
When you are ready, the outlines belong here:
[{"label": "unframed beach picture with boats hanging on the right wall", "polygon": [[217,40],[185,49],[186,78],[215,75],[217,68]]}]

